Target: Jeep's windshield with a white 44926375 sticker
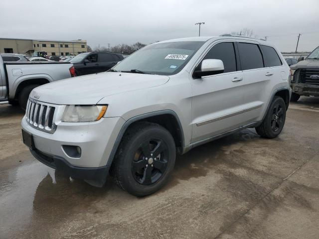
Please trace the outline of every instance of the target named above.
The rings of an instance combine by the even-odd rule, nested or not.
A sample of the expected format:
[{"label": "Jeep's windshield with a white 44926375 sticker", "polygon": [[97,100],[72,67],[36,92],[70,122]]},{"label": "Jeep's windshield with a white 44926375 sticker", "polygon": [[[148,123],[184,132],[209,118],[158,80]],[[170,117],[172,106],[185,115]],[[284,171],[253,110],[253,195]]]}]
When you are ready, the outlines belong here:
[{"label": "Jeep's windshield with a white 44926375 sticker", "polygon": [[125,58],[111,71],[157,75],[179,72],[204,41],[179,41],[152,44]]}]

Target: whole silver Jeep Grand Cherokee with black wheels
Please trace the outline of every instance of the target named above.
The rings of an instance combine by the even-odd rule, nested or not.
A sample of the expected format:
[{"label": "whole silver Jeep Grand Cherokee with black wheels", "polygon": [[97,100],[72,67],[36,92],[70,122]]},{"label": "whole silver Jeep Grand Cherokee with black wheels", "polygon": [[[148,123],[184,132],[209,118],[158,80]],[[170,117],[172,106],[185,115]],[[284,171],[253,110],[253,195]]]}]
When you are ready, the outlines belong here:
[{"label": "whole silver Jeep Grand Cherokee with black wheels", "polygon": [[159,190],[176,152],[247,127],[282,131],[290,68],[267,41],[239,36],[157,42],[109,72],[35,88],[22,119],[24,143],[49,167],[102,186]]}]

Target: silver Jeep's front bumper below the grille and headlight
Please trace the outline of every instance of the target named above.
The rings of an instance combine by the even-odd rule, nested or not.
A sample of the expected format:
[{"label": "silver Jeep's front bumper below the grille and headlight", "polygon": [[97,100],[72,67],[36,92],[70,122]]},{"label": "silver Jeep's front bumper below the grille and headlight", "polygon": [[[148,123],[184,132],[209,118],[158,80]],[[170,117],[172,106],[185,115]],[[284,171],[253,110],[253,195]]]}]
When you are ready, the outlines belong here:
[{"label": "silver Jeep's front bumper below the grille and headlight", "polygon": [[[53,168],[63,168],[64,171],[68,171],[66,166],[69,166],[72,170],[74,169],[73,172],[78,172],[86,168],[100,171],[102,170],[100,168],[106,167],[124,122],[125,120],[121,117],[102,118],[95,122],[60,121],[56,131],[48,133],[32,127],[23,117],[21,126],[33,135],[36,150],[31,152],[39,161]],[[62,145],[79,146],[81,148],[80,157],[69,156],[63,150]],[[43,158],[51,158],[54,163],[48,164]]]}]

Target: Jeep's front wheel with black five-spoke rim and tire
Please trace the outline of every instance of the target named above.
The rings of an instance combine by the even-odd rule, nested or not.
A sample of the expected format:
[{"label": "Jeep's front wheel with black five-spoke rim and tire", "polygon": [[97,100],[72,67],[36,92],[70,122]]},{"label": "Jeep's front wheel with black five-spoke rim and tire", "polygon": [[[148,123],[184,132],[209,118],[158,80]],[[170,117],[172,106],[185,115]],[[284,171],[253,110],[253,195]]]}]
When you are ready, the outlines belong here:
[{"label": "Jeep's front wheel with black five-spoke rim and tire", "polygon": [[166,184],[175,158],[175,142],[169,131],[159,124],[140,122],[124,135],[111,175],[130,194],[150,195]]}]

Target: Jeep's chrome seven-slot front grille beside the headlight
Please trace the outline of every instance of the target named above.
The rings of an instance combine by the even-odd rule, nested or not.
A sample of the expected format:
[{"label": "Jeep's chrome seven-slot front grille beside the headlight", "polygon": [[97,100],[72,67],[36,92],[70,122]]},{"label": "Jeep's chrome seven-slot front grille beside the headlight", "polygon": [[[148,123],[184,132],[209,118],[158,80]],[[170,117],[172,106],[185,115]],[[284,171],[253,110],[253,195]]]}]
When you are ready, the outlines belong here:
[{"label": "Jeep's chrome seven-slot front grille beside the headlight", "polygon": [[53,133],[56,129],[54,113],[56,105],[28,100],[25,111],[26,121],[34,128]]}]

